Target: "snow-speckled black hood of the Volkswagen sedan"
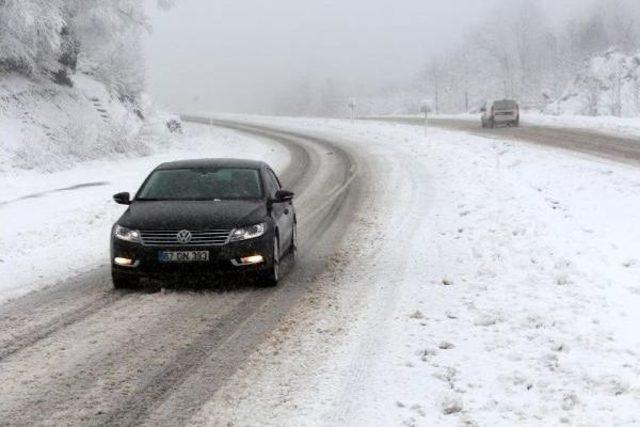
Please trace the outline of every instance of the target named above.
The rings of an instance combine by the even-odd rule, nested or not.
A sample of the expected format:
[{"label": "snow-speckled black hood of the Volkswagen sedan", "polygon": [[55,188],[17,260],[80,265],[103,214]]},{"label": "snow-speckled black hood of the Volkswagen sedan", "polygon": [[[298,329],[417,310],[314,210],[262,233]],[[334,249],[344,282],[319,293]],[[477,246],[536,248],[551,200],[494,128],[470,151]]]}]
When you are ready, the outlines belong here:
[{"label": "snow-speckled black hood of the Volkswagen sedan", "polygon": [[118,224],[138,230],[239,227],[263,222],[264,201],[134,201]]}]

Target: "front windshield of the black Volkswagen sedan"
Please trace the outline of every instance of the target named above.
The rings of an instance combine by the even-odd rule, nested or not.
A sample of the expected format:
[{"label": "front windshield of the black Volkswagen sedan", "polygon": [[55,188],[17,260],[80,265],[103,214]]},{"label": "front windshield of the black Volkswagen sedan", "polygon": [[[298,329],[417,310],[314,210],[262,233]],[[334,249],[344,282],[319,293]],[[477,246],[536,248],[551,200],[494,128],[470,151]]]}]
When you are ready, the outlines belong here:
[{"label": "front windshield of the black Volkswagen sedan", "polygon": [[262,198],[257,169],[156,170],[136,200],[242,200]]}]

